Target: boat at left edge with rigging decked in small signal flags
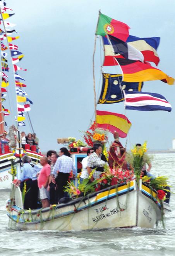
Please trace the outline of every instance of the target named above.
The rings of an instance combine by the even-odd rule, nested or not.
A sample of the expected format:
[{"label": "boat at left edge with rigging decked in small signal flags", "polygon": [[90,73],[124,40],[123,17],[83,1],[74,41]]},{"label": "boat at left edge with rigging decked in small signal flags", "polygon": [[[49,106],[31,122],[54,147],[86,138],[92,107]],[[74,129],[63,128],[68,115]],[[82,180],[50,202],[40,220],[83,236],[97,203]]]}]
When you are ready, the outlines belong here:
[{"label": "boat at left edge with rigging decked in small signal flags", "polygon": [[[14,158],[14,156],[16,156],[16,161],[21,161],[21,157],[24,154],[27,154],[28,156],[31,157],[32,163],[38,163],[39,159],[43,156],[43,154],[41,154],[41,152],[36,152],[36,147],[33,146],[29,147],[29,145],[25,145],[25,150],[20,146],[17,142],[16,137],[20,138],[20,136],[17,134],[19,131],[19,126],[24,126],[25,123],[23,122],[25,117],[24,117],[24,112],[26,111],[27,113],[27,118],[29,121],[29,126],[31,126],[31,130],[32,133],[34,133],[33,130],[33,126],[31,123],[31,119],[29,116],[28,111],[30,110],[30,105],[20,105],[18,104],[18,102],[20,102],[19,100],[17,100],[17,97],[19,97],[21,99],[22,102],[24,102],[22,100],[22,98],[24,98],[23,96],[26,96],[27,93],[24,92],[23,90],[21,90],[23,87],[26,87],[26,85],[24,85],[23,83],[21,83],[21,80],[23,81],[24,79],[21,78],[21,76],[19,76],[17,74],[18,70],[26,70],[26,69],[22,69],[20,67],[18,67],[17,65],[15,65],[17,62],[19,62],[24,55],[20,55],[22,54],[21,52],[18,52],[18,47],[17,45],[14,45],[12,43],[10,43],[11,41],[17,39],[18,37],[9,37],[8,35],[10,33],[13,33],[13,31],[9,31],[8,26],[10,26],[10,22],[5,22],[4,19],[6,19],[6,16],[11,16],[11,14],[5,14],[4,10],[3,10],[3,4],[4,3],[0,3],[0,24],[3,26],[1,26],[1,33],[2,36],[1,37],[1,61],[2,61],[2,68],[1,68],[1,95],[0,95],[0,135],[2,135],[3,133],[6,133],[6,128],[7,128],[7,122],[5,121],[5,117],[9,116],[10,111],[9,109],[6,109],[3,105],[2,102],[5,101],[5,95],[4,92],[7,92],[6,87],[9,86],[9,81],[7,81],[8,79],[8,75],[6,74],[6,72],[9,72],[9,67],[8,67],[8,60],[7,58],[7,52],[5,52],[6,50],[9,50],[10,54],[11,54],[11,58],[10,60],[12,61],[12,65],[14,67],[14,76],[15,76],[15,90],[16,90],[16,95],[14,95],[14,100],[16,102],[16,106],[17,106],[17,117],[14,117],[14,122],[15,125],[11,125],[9,127],[9,138],[10,138],[10,142],[9,145],[5,145],[4,149],[1,149],[1,145],[0,145],[0,189],[10,189],[10,184],[12,182],[12,175],[11,175],[11,160]],[[7,25],[7,26],[6,26]],[[13,26],[13,24],[12,24]],[[15,32],[15,30],[14,30]],[[7,45],[5,45],[4,43],[2,43],[2,40],[7,40]],[[14,55],[17,54],[17,58],[14,58]],[[20,95],[20,96],[18,96]],[[16,99],[15,99],[16,98]],[[27,100],[27,99],[26,99]],[[29,100],[30,101],[30,100]],[[31,102],[31,101],[30,101]],[[25,102],[24,102],[25,103]],[[32,102],[31,102],[32,104]],[[27,109],[25,109],[25,106],[27,106]],[[20,107],[23,109],[20,109]],[[24,110],[25,109],[25,110]]]}]

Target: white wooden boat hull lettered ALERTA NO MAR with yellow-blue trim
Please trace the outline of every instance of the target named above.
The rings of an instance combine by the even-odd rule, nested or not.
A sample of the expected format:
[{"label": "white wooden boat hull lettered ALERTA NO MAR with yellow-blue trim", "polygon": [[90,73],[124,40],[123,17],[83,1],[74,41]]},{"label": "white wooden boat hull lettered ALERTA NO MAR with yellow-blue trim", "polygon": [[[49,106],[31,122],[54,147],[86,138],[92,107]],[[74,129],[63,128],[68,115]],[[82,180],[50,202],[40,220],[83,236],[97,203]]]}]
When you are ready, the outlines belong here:
[{"label": "white wooden boat hull lettered ALERTA NO MAR with yellow-blue trim", "polygon": [[22,230],[80,231],[96,228],[154,228],[161,220],[156,192],[140,180],[112,186],[52,208],[25,210],[19,187],[7,202],[10,226]]}]

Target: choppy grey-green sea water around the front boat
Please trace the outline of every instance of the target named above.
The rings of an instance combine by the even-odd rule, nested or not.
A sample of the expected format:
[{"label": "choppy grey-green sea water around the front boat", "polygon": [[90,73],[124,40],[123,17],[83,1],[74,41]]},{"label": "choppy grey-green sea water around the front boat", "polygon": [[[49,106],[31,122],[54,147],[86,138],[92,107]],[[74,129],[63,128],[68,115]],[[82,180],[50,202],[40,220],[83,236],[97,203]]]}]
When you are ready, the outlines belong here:
[{"label": "choppy grey-green sea water around the front boat", "polygon": [[[175,192],[175,154],[154,154],[151,173],[169,177]],[[9,192],[0,191],[0,255],[167,255],[175,256],[175,195],[172,211],[165,216],[165,229],[116,228],[82,232],[10,230],[6,215]]]}]

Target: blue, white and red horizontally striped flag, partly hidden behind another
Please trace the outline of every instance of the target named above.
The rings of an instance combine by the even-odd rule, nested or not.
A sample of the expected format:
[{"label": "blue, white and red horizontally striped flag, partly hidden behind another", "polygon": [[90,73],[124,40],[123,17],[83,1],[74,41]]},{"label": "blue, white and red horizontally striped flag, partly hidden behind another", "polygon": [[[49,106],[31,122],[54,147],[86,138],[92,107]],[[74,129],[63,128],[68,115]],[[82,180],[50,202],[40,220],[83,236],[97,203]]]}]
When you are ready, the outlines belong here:
[{"label": "blue, white and red horizontally striped flag, partly hidden behind another", "polygon": [[[130,36],[127,38],[128,45],[133,46],[137,50],[139,50],[144,56],[144,61],[153,62],[158,65],[160,59],[156,52],[158,48],[160,37],[150,37],[150,38],[139,38],[136,36]],[[117,66],[118,63],[115,61],[115,58],[124,58],[120,54],[115,54],[113,52],[113,47],[110,44],[107,37],[103,36],[103,45],[105,49],[105,58],[103,62],[103,66]]]}]

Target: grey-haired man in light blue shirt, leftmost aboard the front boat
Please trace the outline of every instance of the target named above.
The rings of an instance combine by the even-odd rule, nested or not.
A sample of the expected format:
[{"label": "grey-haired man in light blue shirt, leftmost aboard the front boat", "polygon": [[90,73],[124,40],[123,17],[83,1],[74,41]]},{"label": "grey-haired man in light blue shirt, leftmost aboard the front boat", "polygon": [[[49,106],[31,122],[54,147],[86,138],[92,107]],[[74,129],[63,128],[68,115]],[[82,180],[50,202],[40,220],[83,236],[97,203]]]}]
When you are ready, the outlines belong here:
[{"label": "grey-haired man in light blue shirt, leftmost aboard the front boat", "polygon": [[24,189],[26,190],[24,197],[24,209],[33,209],[33,172],[32,166],[30,165],[31,158],[25,155],[22,157],[22,162],[24,165],[21,167],[21,173],[18,173],[18,184],[20,185],[21,192]]}]

